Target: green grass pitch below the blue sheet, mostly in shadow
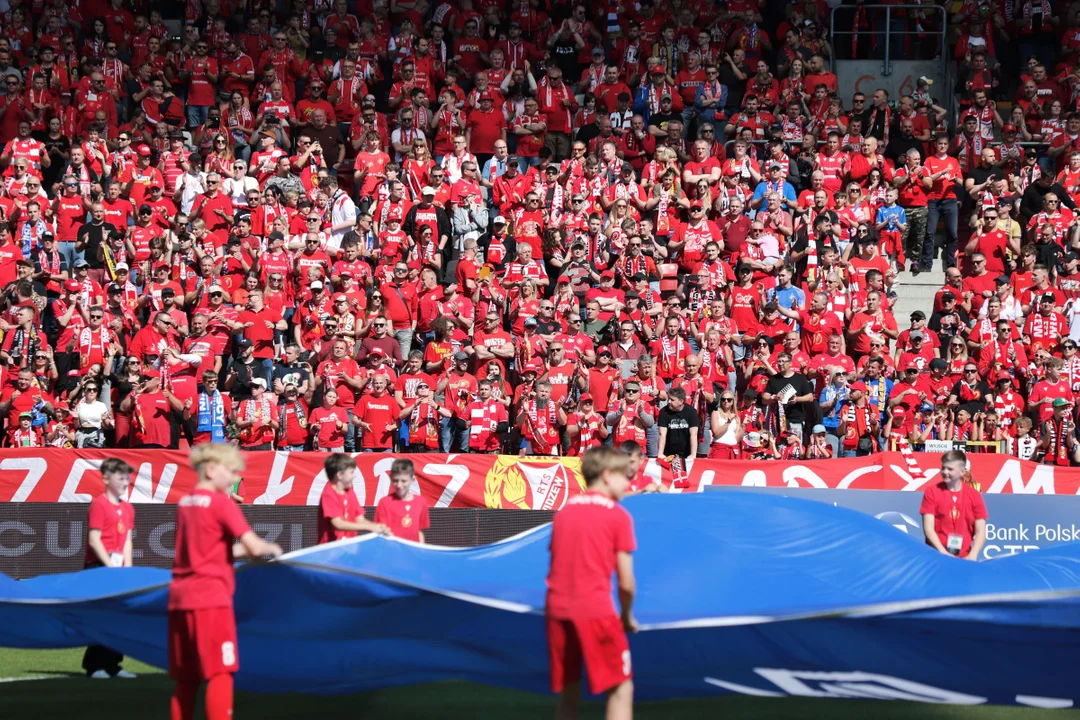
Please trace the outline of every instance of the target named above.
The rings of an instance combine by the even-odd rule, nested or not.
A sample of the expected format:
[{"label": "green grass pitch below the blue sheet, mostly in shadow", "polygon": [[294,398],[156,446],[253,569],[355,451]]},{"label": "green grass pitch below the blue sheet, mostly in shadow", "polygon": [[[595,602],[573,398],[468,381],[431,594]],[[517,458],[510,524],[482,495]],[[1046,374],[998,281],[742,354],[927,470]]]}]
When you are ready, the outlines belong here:
[{"label": "green grass pitch below the blue sheet, mostly in shadow", "polygon": [[[82,675],[82,650],[0,649],[0,718],[57,720],[147,720],[168,716],[172,683],[156,668],[129,660],[135,680],[90,680]],[[28,678],[44,678],[28,680]],[[26,680],[26,681],[19,681]],[[235,716],[282,718],[352,717],[365,720],[550,720],[553,696],[534,695],[470,682],[441,682],[356,695],[253,695],[237,693]],[[202,716],[201,701],[198,718]],[[589,703],[583,718],[604,717]],[[1078,710],[957,707],[915,703],[756,698],[638,703],[644,720],[1080,720]]]}]

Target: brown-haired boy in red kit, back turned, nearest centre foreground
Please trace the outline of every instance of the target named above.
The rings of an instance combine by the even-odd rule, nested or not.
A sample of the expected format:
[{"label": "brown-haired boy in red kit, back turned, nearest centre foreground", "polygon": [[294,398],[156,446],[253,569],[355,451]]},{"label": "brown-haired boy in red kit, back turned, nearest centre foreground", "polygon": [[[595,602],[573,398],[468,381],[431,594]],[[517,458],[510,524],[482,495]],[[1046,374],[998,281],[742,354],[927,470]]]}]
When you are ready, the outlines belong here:
[{"label": "brown-haired boy in red kit, back turned, nearest centre foreground", "polygon": [[[557,718],[578,717],[582,661],[590,690],[608,696],[608,720],[633,716],[626,633],[637,630],[631,612],[636,543],[634,521],[619,505],[630,484],[629,464],[630,458],[612,448],[585,452],[586,491],[568,500],[552,526],[545,616]],[[619,579],[620,615],[611,602],[612,573]]]}]

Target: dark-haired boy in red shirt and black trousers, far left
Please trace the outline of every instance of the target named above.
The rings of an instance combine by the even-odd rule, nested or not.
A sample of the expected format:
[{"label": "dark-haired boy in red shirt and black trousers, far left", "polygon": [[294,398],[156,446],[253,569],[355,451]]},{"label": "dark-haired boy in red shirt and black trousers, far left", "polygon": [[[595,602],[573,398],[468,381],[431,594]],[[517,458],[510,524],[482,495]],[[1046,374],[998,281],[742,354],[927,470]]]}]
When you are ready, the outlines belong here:
[{"label": "dark-haired boy in red shirt and black trousers, far left", "polygon": [[[124,498],[134,468],[123,460],[108,458],[102,463],[105,492],[90,503],[86,534],[85,568],[132,567],[132,528],[135,508]],[[91,646],[82,656],[82,669],[95,680],[134,678],[134,673],[120,667],[124,656],[103,646]]]}]

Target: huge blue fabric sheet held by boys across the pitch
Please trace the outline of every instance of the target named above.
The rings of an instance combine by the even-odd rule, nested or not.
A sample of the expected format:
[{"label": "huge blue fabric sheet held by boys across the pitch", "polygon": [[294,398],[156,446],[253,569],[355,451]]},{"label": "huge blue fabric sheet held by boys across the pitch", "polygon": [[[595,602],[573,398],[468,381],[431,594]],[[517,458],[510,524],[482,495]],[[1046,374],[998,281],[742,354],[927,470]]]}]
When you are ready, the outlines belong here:
[{"label": "huge blue fabric sheet held by boys across the pitch", "polygon": [[[1053,502],[1052,498],[1047,498]],[[1080,543],[988,563],[873,517],[753,492],[632,498],[635,694],[1068,707]],[[347,693],[448,678],[545,692],[550,526],[446,549],[383,538],[237,575],[239,688]],[[164,666],[163,570],[0,575],[0,646],[100,643]]]}]

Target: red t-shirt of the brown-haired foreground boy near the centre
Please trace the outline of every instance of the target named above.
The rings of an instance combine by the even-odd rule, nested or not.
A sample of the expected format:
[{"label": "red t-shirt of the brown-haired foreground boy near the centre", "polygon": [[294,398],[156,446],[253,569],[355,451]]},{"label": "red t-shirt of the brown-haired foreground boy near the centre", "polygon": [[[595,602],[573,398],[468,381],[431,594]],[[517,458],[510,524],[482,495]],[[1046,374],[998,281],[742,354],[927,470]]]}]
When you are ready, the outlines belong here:
[{"label": "red t-shirt of the brown-haired foreground boy near the centre", "polygon": [[570,498],[551,531],[546,614],[558,620],[615,615],[611,574],[619,553],[633,553],[634,521],[597,492]]}]

